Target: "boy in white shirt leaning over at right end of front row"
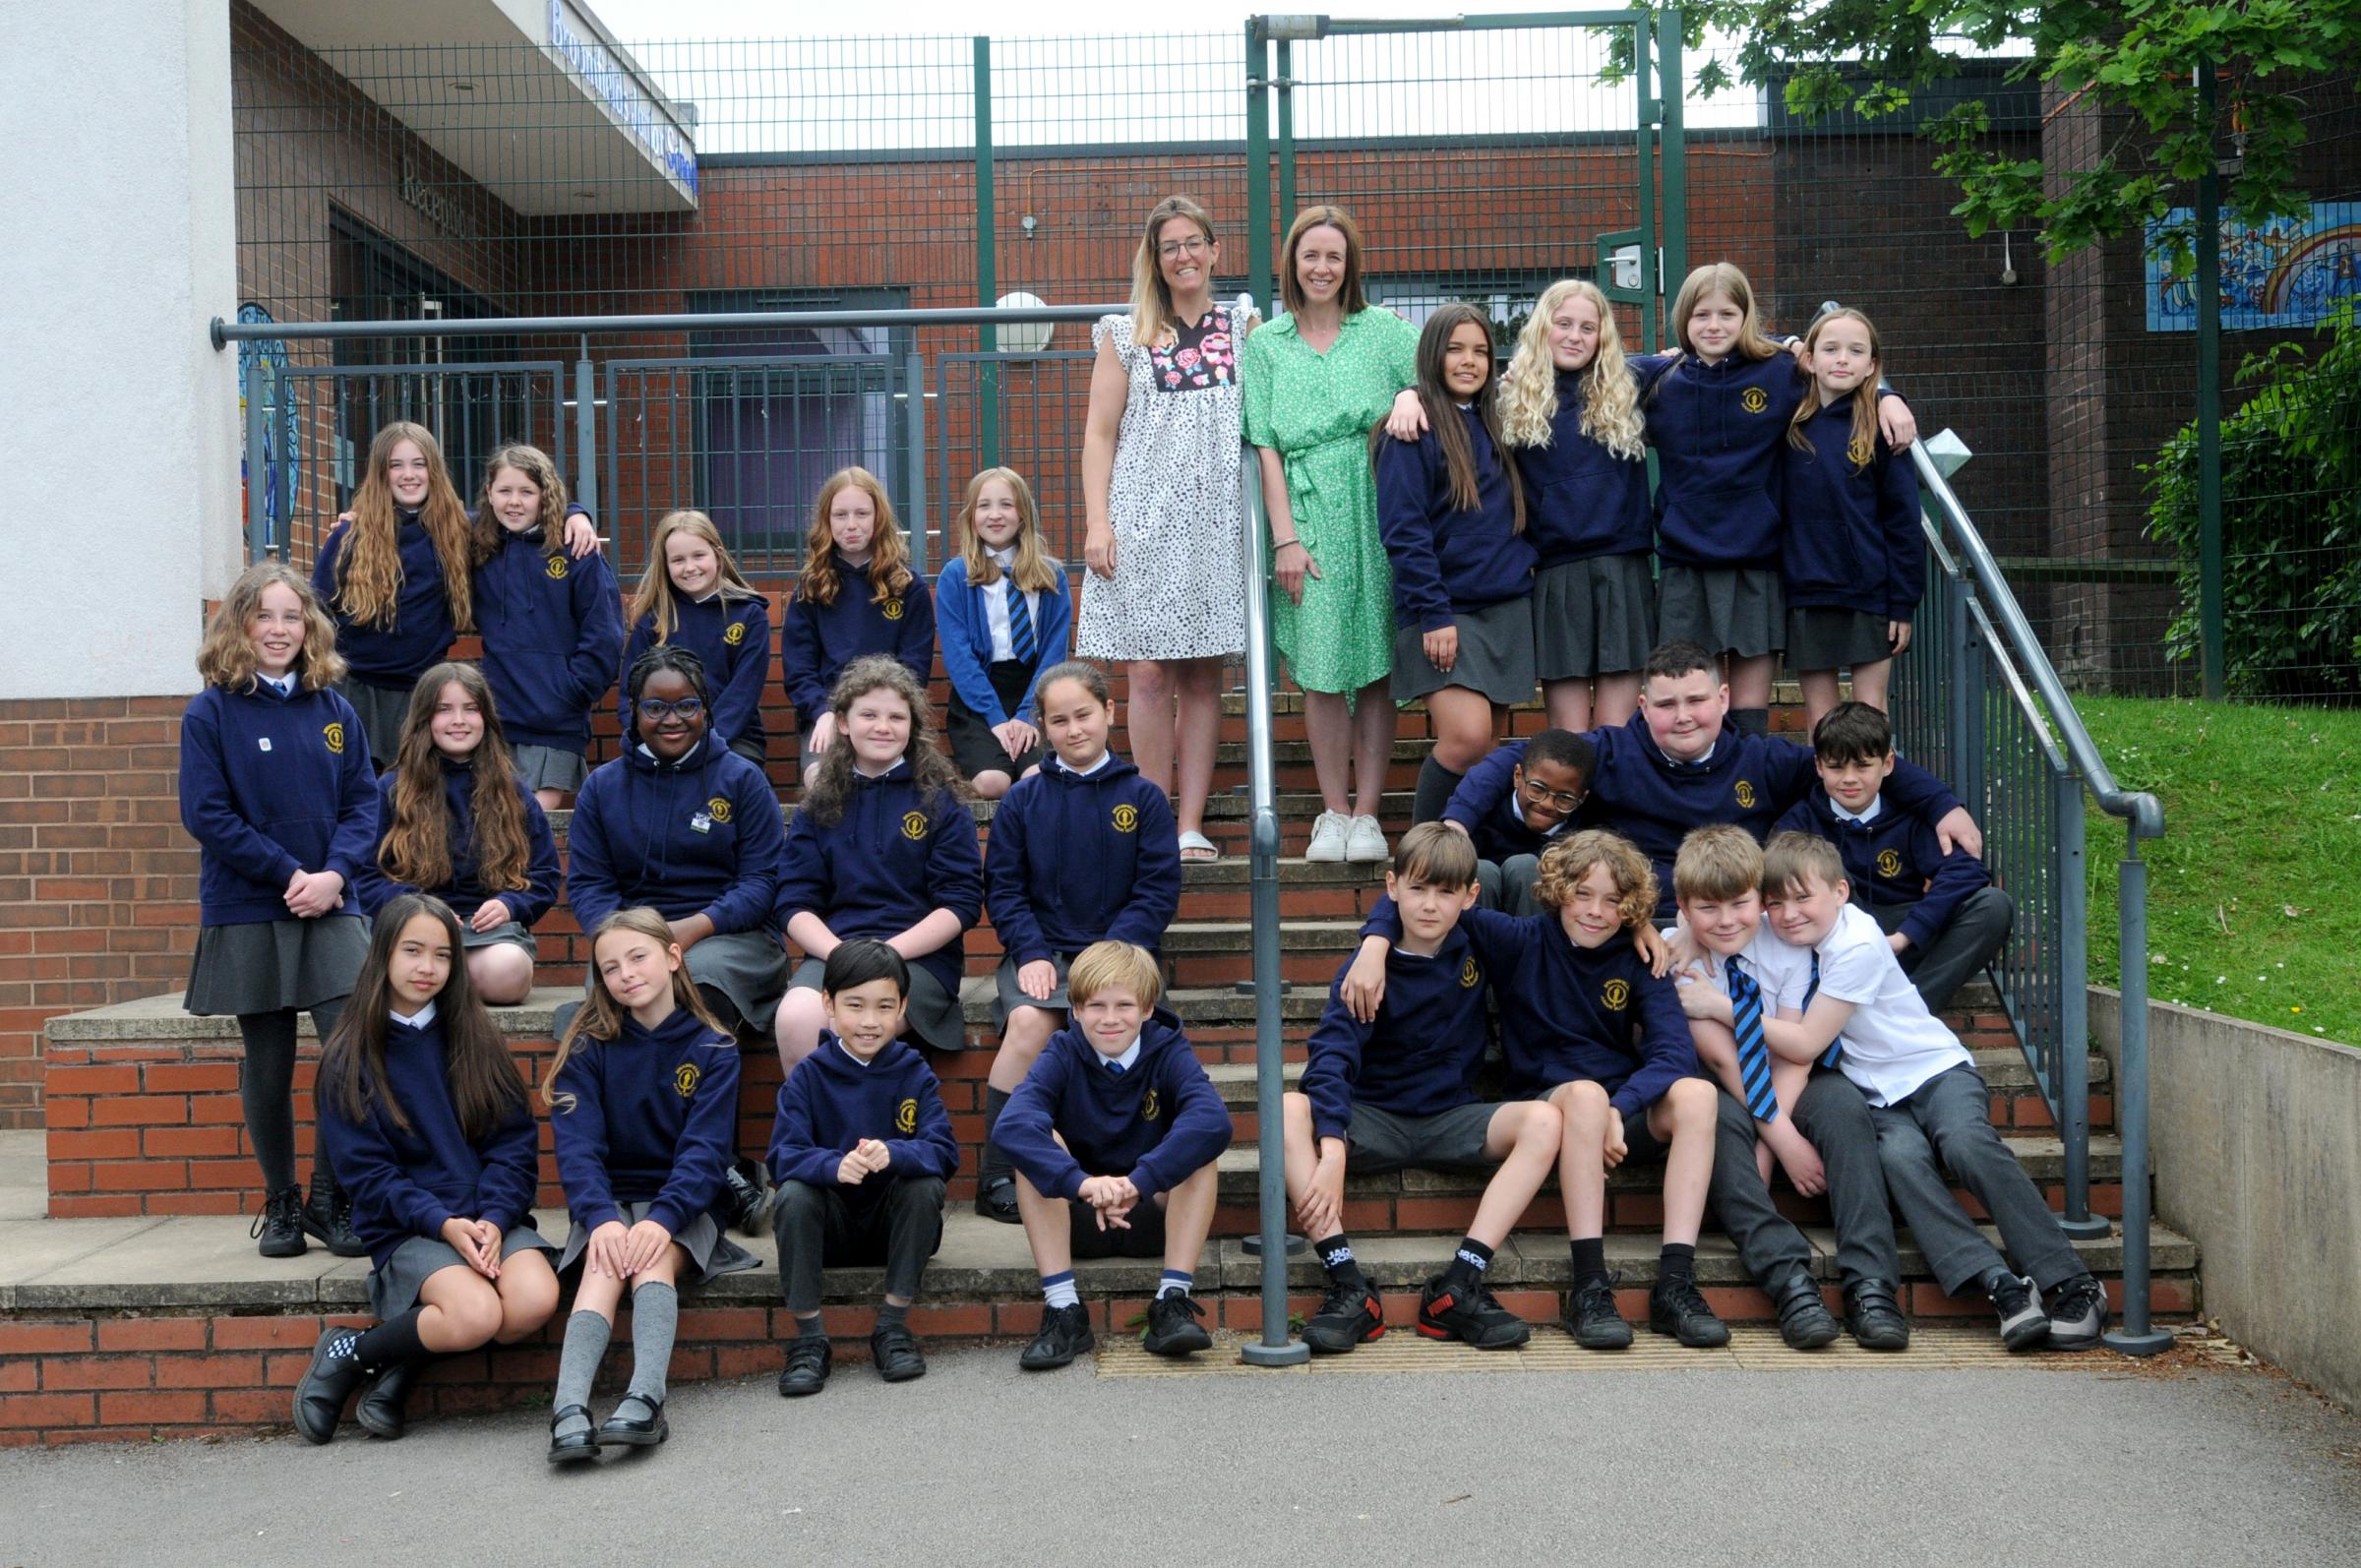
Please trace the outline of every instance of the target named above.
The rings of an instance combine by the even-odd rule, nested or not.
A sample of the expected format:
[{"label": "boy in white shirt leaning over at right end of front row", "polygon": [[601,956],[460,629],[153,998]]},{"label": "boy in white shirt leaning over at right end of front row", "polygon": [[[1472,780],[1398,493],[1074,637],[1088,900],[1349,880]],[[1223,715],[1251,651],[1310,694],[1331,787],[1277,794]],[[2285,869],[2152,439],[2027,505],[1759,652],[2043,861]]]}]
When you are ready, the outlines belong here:
[{"label": "boy in white shirt leaning over at right end of front row", "polygon": [[[1764,1020],[1787,1060],[1825,1058],[1870,1103],[1877,1159],[1903,1221],[1945,1294],[1981,1285],[2012,1351],[2087,1351],[2106,1329],[2106,1287],[2082,1268],[2040,1188],[1993,1131],[1983,1074],[1960,1037],[1927,1011],[1877,921],[1851,902],[1837,845],[1778,834],[1764,852],[1764,914],[1773,935],[1811,949],[1813,992],[1801,1023]],[[1960,1178],[2000,1226],[2019,1275],[1950,1197]],[[2042,1313],[2042,1294],[2049,1311]]]}]

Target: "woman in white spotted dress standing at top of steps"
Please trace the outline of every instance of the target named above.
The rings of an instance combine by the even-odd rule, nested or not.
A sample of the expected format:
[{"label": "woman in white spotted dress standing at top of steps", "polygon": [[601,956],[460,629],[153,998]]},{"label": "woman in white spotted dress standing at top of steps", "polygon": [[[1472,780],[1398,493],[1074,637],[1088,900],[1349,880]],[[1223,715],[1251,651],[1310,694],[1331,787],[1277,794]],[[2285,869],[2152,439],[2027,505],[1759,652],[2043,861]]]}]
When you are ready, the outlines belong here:
[{"label": "woman in white spotted dress standing at top of steps", "polygon": [[1188,196],[1147,210],[1131,314],[1091,328],[1081,437],[1084,562],[1074,652],[1129,666],[1131,760],[1173,796],[1183,860],[1204,836],[1221,661],[1247,647],[1237,366],[1251,300],[1214,300],[1221,243]]}]

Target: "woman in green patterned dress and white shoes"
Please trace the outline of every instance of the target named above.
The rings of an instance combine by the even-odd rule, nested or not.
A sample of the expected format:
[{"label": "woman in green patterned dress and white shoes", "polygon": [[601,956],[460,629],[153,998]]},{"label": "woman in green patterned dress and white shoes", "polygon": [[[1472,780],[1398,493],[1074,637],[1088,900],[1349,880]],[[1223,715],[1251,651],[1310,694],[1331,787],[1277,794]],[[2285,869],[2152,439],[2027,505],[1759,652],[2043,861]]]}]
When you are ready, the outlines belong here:
[{"label": "woman in green patterned dress and white shoes", "polygon": [[1320,777],[1306,860],[1386,860],[1376,822],[1393,753],[1393,571],[1376,534],[1369,427],[1417,378],[1419,328],[1360,288],[1360,227],[1306,208],[1287,229],[1287,314],[1247,340],[1247,442],[1270,515],[1273,638],[1303,687]]}]

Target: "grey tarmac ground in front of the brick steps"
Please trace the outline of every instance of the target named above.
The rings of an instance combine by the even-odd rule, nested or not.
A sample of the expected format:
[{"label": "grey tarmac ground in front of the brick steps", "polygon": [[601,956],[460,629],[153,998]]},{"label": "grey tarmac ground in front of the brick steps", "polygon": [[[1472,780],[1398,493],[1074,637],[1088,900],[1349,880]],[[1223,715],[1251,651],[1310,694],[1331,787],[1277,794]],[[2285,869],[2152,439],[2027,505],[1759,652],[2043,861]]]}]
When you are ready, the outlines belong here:
[{"label": "grey tarmac ground in front of the brick steps", "polygon": [[[1950,1341],[1953,1363],[1974,1355]],[[1020,1377],[956,1351],[819,1398],[685,1386],[673,1440],[548,1474],[543,1417],[0,1455],[0,1566],[2349,1566],[2361,1422],[2267,1372],[2113,1358],[1516,1372],[1395,1337],[1320,1372]],[[1941,1344],[1929,1344],[1941,1351]],[[1355,1363],[1360,1370],[1355,1370]],[[604,1405],[604,1400],[602,1400]],[[529,1544],[527,1544],[529,1542]],[[1518,1556],[1520,1554],[1520,1556]]]}]

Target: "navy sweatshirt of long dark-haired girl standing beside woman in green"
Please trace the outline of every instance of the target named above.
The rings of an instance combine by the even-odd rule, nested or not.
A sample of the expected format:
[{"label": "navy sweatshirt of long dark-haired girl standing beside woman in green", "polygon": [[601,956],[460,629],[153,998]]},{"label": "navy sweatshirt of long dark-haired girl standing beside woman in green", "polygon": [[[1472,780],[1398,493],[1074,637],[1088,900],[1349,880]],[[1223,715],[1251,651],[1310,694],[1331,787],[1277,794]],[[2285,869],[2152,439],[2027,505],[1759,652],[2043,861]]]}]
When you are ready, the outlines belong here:
[{"label": "navy sweatshirt of long dark-haired girl standing beside woman in green", "polygon": [[1471,510],[1452,503],[1452,470],[1433,430],[1376,444],[1376,531],[1393,562],[1393,621],[1419,631],[1532,593],[1532,543],[1516,531],[1509,470],[1476,409],[1445,418],[1466,425],[1476,451]]}]

